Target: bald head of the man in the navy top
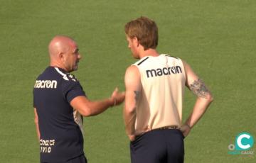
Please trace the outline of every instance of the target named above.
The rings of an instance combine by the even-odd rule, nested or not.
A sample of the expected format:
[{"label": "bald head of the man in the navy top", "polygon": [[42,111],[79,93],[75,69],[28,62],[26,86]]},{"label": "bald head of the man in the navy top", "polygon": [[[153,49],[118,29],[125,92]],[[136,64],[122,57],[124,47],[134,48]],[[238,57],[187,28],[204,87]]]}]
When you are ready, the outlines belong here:
[{"label": "bald head of the man in the navy top", "polygon": [[49,46],[50,66],[60,67],[68,72],[78,68],[80,54],[78,45],[73,38],[57,35],[50,40]]}]

